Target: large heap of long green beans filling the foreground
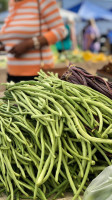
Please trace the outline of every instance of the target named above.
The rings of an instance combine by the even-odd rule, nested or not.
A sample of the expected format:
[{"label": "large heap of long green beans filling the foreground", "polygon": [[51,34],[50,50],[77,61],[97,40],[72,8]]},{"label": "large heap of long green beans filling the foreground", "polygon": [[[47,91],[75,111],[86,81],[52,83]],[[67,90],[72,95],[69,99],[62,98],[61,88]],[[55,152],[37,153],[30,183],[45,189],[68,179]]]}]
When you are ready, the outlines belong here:
[{"label": "large heap of long green beans filling the foreground", "polygon": [[39,73],[8,83],[0,102],[0,194],[7,200],[73,200],[112,158],[112,100]]}]

